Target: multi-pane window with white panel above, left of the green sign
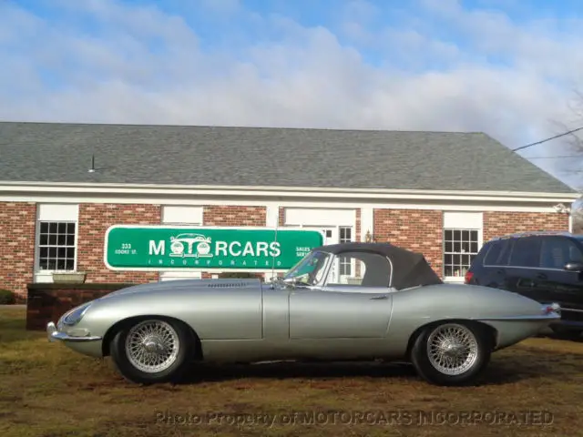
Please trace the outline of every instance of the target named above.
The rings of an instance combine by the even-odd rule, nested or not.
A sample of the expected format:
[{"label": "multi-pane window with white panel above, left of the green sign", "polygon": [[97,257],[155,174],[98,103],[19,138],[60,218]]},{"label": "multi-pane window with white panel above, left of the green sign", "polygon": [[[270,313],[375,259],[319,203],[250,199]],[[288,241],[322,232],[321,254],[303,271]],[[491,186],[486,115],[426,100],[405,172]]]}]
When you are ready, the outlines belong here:
[{"label": "multi-pane window with white panel above, left of the green sign", "polygon": [[38,205],[36,275],[77,269],[77,219],[77,205]]}]

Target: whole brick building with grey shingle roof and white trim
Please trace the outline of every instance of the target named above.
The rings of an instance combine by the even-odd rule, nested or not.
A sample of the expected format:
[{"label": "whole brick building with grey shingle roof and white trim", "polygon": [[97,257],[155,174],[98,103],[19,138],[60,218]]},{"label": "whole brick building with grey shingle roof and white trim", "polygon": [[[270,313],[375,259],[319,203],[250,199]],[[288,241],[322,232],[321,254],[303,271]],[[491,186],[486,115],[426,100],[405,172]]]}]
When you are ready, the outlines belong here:
[{"label": "whole brick building with grey shingle roof and white trim", "polygon": [[[110,269],[114,225],[302,228],[390,241],[463,280],[497,235],[568,230],[578,193],[482,133],[0,123],[0,289],[229,269]],[[238,269],[269,274],[269,269]]]}]

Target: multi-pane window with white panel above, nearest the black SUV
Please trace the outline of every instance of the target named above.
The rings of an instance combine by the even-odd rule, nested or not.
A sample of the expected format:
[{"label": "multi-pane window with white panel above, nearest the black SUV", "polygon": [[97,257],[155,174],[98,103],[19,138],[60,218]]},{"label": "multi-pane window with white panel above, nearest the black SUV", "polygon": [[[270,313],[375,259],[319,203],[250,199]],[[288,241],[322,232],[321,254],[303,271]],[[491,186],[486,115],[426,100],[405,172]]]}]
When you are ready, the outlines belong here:
[{"label": "multi-pane window with white panel above, nearest the black SUV", "polygon": [[482,213],[445,212],[444,277],[465,276],[482,247]]}]

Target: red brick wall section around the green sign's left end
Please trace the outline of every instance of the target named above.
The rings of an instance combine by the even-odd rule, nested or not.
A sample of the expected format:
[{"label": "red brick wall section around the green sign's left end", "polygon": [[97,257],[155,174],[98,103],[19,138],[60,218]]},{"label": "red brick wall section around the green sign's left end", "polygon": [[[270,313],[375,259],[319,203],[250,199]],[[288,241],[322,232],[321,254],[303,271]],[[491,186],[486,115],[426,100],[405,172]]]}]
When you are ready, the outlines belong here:
[{"label": "red brick wall section around the green sign's left end", "polygon": [[103,262],[107,228],[112,225],[159,225],[158,205],[79,205],[77,269],[87,272],[87,283],[134,282],[158,280],[158,272],[111,271]]}]

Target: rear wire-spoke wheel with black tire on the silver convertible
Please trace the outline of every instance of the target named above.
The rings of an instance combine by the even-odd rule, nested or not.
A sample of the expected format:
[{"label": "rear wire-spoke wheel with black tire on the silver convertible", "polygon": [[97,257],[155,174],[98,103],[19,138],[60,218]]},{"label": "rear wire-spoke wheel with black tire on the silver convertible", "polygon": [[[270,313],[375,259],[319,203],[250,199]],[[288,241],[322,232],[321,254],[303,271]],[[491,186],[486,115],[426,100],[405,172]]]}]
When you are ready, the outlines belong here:
[{"label": "rear wire-spoke wheel with black tire on the silver convertible", "polygon": [[411,361],[419,375],[436,385],[466,385],[486,369],[492,351],[486,331],[469,322],[425,328],[414,341]]}]

